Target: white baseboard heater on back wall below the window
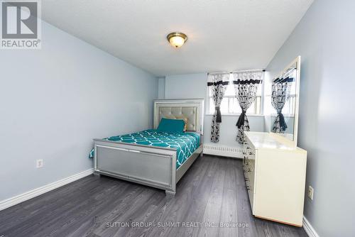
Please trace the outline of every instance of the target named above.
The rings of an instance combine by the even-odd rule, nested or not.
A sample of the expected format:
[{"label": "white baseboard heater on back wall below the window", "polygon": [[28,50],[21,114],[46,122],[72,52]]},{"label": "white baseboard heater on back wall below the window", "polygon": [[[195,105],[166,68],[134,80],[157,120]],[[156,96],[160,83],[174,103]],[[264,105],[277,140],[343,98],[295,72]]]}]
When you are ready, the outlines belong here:
[{"label": "white baseboard heater on back wall below the window", "polygon": [[221,155],[231,158],[243,158],[242,148],[212,143],[207,143],[203,145],[203,153],[208,155]]}]

